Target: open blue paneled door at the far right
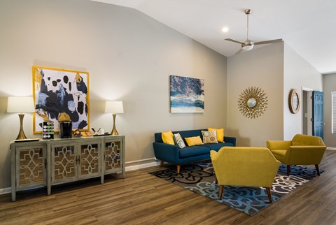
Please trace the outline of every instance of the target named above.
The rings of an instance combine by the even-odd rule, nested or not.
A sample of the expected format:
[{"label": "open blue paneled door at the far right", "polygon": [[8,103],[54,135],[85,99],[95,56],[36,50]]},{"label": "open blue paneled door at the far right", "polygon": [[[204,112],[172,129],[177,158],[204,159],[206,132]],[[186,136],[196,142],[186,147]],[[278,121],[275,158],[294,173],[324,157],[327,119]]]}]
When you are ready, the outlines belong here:
[{"label": "open blue paneled door at the far right", "polygon": [[323,92],[313,92],[313,135],[323,139]]}]

